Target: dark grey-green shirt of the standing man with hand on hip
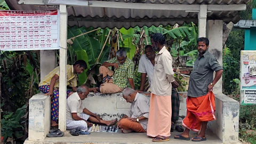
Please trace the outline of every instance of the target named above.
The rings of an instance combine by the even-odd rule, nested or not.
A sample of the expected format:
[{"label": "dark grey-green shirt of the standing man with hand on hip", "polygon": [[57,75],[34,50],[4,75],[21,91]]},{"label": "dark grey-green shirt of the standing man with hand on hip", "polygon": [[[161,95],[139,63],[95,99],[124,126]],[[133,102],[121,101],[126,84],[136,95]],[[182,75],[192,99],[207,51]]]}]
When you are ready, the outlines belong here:
[{"label": "dark grey-green shirt of the standing man with hand on hip", "polygon": [[207,50],[202,57],[198,55],[189,78],[188,96],[201,97],[208,93],[208,85],[213,81],[213,71],[221,70],[217,59]]}]

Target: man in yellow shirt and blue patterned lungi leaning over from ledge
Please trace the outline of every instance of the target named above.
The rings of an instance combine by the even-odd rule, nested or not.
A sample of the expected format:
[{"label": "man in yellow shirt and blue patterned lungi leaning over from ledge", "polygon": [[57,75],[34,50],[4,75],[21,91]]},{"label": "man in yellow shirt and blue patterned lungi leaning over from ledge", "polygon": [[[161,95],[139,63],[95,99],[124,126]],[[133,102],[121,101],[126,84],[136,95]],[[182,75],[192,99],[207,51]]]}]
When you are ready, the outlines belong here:
[{"label": "man in yellow shirt and blue patterned lungi leaning over from ledge", "polygon": [[[67,85],[72,87],[73,91],[77,90],[77,74],[82,74],[85,69],[87,64],[83,60],[76,61],[74,65],[67,65]],[[51,96],[51,126],[53,127],[58,126],[59,118],[59,76],[60,67],[57,67],[46,75],[38,86],[41,92]],[[67,90],[67,97],[70,92],[72,91]]]}]

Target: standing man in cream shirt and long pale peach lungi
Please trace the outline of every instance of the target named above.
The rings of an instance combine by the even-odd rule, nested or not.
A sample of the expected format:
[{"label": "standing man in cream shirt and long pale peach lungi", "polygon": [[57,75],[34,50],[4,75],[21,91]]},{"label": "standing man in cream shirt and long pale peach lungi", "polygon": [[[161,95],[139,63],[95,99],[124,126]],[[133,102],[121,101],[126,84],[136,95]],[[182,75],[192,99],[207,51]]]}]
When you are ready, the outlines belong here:
[{"label": "standing man in cream shirt and long pale peach lungi", "polygon": [[147,135],[153,137],[153,141],[169,141],[171,135],[172,118],[172,84],[174,81],[172,70],[172,57],[164,46],[165,37],[156,33],[153,35],[152,46],[158,51],[155,57],[153,81],[150,89],[150,108],[148,118]]}]

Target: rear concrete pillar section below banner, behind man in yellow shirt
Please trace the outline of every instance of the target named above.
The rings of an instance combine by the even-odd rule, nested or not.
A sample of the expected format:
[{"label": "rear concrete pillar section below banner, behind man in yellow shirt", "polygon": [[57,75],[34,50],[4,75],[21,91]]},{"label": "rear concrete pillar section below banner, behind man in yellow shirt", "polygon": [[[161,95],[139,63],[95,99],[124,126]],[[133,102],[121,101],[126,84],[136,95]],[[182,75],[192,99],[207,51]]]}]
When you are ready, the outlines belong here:
[{"label": "rear concrete pillar section below banner, behind man in yellow shirt", "polygon": [[57,67],[56,51],[55,50],[41,50],[40,51],[40,77],[41,77],[41,81],[55,67]]}]

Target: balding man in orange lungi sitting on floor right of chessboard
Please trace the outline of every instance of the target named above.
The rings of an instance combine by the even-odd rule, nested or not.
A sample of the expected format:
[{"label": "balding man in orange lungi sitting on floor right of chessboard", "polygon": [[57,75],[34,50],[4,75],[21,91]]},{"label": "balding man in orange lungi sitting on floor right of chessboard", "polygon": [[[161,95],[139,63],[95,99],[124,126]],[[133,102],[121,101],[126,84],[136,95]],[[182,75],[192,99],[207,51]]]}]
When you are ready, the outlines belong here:
[{"label": "balding man in orange lungi sitting on floor right of chessboard", "polygon": [[129,114],[117,122],[117,127],[120,127],[123,133],[147,132],[149,99],[130,88],[124,89],[123,98],[131,103],[131,108]]}]

